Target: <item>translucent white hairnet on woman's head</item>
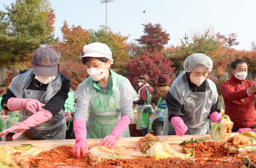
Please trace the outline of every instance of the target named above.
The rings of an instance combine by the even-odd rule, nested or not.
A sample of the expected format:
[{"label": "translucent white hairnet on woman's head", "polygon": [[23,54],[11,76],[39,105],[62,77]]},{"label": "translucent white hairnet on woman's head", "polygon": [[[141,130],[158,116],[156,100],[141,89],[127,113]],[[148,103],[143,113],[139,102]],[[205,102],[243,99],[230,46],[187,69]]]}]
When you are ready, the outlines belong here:
[{"label": "translucent white hairnet on woman's head", "polygon": [[184,61],[183,68],[186,72],[209,72],[212,70],[212,59],[202,53],[194,53]]}]

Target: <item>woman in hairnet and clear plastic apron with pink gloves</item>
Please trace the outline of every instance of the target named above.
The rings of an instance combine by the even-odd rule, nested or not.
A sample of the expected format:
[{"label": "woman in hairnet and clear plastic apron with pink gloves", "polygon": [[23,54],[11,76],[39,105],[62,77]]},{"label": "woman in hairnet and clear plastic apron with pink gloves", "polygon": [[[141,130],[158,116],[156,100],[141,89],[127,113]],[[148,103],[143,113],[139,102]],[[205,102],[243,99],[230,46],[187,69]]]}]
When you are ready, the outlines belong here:
[{"label": "woman in hairnet and clear plastic apron with pink gloves", "polygon": [[185,71],[172,83],[165,98],[169,114],[165,120],[171,121],[169,135],[205,134],[207,118],[213,123],[221,121],[216,85],[207,78],[212,70],[212,60],[202,53],[195,53],[184,61],[183,67]]}]

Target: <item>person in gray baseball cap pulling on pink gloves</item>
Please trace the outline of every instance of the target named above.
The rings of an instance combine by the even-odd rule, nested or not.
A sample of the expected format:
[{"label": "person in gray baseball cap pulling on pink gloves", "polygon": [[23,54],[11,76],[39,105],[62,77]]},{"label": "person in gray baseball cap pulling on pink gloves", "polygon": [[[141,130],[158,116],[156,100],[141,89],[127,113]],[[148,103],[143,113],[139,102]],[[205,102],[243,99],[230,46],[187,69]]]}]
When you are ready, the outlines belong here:
[{"label": "person in gray baseball cap pulling on pink gloves", "polygon": [[19,119],[0,135],[16,132],[12,139],[65,139],[64,103],[70,80],[58,71],[59,57],[51,48],[36,49],[32,61],[33,68],[20,71],[3,95],[3,108],[19,111]]}]

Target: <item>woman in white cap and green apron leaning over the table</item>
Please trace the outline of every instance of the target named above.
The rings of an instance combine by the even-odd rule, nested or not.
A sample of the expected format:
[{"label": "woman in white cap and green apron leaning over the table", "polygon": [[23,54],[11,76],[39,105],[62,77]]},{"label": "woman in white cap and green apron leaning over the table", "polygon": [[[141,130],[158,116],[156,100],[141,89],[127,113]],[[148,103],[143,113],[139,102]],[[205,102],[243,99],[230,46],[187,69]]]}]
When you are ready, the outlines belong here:
[{"label": "woman in white cap and green apron leaning over the table", "polygon": [[71,153],[78,159],[86,157],[88,138],[103,138],[99,146],[114,148],[119,138],[130,137],[132,96],[136,94],[126,77],[109,69],[113,59],[106,44],[88,44],[83,51],[82,62],[90,76],[78,85],[74,94],[77,99],[74,115],[76,145]]}]

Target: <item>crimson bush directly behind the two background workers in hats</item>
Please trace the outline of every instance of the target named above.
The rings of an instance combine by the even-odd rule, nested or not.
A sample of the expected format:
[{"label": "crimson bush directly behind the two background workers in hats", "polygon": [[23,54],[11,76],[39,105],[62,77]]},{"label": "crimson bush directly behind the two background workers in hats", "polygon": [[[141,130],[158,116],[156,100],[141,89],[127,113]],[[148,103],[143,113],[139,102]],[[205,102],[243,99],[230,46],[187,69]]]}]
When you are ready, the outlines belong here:
[{"label": "crimson bush directly behind the two background workers in hats", "polygon": [[167,74],[170,78],[173,78],[174,68],[171,67],[173,64],[174,63],[171,60],[165,59],[163,54],[156,50],[152,54],[142,52],[140,58],[128,62],[127,70],[130,74],[128,79],[133,87],[138,90],[139,85],[136,80],[142,74],[147,75],[151,79],[150,85],[155,89],[157,87],[156,81],[158,80],[159,75]]}]

